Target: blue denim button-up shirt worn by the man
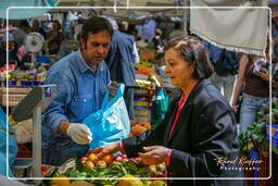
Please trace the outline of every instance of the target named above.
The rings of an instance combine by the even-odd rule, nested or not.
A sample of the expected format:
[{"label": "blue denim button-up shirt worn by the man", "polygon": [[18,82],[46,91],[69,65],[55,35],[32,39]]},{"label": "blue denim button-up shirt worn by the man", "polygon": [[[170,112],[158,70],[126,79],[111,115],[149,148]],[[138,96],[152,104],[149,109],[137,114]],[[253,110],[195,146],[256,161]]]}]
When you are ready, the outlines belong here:
[{"label": "blue denim button-up shirt worn by the man", "polygon": [[56,134],[60,122],[80,123],[99,110],[110,83],[105,62],[101,62],[93,73],[80,51],[54,63],[48,72],[45,84],[56,84],[58,96],[43,113],[42,148],[70,139],[67,135]]}]

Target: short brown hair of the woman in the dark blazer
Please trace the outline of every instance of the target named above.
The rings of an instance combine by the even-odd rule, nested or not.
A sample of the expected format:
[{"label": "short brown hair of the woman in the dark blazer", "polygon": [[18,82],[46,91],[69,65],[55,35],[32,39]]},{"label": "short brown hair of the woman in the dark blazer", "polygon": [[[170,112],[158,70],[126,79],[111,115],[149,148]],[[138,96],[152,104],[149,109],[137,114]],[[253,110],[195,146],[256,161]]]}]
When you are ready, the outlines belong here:
[{"label": "short brown hair of the woman in the dark blazer", "polygon": [[178,37],[169,40],[165,51],[175,49],[188,64],[195,64],[192,78],[208,78],[212,73],[212,66],[205,48],[200,39],[193,36]]}]

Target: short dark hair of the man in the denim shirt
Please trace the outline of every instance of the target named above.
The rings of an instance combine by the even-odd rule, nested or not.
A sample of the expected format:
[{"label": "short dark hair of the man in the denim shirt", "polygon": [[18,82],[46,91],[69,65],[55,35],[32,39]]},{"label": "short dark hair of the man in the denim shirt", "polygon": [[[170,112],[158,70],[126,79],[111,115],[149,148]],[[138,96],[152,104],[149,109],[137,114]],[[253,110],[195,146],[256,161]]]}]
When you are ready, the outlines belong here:
[{"label": "short dark hair of the man in the denim shirt", "polygon": [[106,18],[98,16],[91,17],[87,20],[83,26],[81,38],[86,42],[89,34],[98,34],[103,30],[109,32],[112,39],[114,32],[109,21]]}]

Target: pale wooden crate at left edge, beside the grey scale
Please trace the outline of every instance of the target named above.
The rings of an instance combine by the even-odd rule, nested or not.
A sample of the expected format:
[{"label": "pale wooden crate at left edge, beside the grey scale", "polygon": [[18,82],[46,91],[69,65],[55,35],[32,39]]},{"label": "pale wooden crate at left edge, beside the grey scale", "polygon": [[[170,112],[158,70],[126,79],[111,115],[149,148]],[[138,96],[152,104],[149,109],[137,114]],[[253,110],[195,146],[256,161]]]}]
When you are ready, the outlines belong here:
[{"label": "pale wooden crate at left edge, beside the grey scale", "polygon": [[9,87],[9,103],[7,102],[7,87],[0,88],[0,104],[5,107],[15,107],[28,92],[30,87]]}]

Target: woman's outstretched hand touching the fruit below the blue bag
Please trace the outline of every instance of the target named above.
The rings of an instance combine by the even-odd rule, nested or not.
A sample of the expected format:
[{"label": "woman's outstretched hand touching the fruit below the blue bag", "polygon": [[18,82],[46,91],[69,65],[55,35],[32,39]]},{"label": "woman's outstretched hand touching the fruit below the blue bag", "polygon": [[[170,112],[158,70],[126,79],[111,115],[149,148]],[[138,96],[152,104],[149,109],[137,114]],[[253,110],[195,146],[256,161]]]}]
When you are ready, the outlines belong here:
[{"label": "woman's outstretched hand touching the fruit below the blue bag", "polygon": [[119,141],[111,142],[105,146],[93,149],[92,152],[97,153],[97,159],[100,160],[102,157],[104,157],[106,154],[111,154],[111,153],[119,151],[121,149],[119,149],[118,144],[119,144]]}]

